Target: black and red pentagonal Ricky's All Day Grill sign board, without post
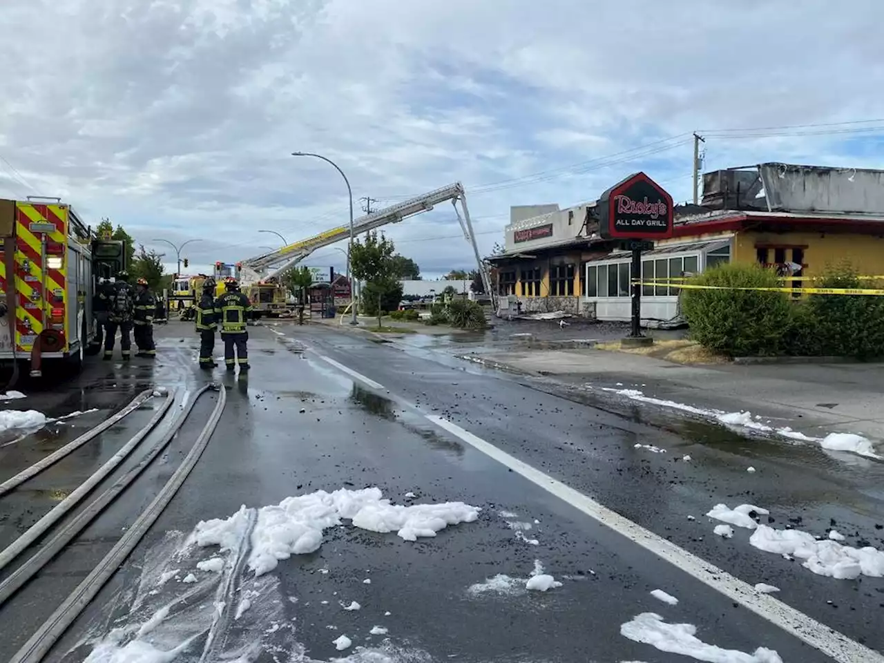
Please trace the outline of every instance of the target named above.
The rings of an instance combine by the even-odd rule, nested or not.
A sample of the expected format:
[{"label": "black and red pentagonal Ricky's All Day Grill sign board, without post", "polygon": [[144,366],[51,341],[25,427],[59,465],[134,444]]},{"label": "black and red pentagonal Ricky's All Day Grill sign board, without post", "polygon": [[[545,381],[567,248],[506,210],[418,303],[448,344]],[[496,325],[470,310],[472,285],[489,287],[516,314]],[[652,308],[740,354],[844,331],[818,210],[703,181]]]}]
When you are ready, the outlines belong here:
[{"label": "black and red pentagonal Ricky's All Day Grill sign board, without post", "polygon": [[644,172],[636,172],[598,199],[598,230],[608,239],[672,237],[672,196]]}]

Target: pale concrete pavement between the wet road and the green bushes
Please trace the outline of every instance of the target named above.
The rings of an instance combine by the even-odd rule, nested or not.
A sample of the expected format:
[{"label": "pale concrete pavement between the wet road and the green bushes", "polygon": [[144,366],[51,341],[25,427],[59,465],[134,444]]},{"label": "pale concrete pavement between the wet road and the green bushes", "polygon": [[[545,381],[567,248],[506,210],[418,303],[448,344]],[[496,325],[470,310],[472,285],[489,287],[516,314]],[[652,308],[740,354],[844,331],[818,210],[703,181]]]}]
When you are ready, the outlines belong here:
[{"label": "pale concrete pavement between the wet road and the green bushes", "polygon": [[597,349],[478,350],[459,356],[591,386],[611,398],[667,400],[672,401],[668,407],[688,412],[690,408],[674,406],[723,413],[748,410],[773,428],[788,426],[812,437],[850,432],[884,440],[882,363],[687,366]]}]

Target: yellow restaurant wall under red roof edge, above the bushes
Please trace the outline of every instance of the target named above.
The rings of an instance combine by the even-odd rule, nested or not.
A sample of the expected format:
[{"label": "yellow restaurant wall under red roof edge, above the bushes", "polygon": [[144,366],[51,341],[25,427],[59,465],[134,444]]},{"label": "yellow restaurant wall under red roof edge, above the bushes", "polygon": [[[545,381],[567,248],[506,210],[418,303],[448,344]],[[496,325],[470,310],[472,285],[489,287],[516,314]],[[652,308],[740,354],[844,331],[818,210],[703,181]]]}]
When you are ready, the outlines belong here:
[{"label": "yellow restaurant wall under red roof edge, above the bushes", "polygon": [[[806,246],[804,276],[820,276],[827,265],[849,261],[860,274],[884,275],[884,239],[858,233],[821,232],[738,232],[732,260],[756,262],[757,244]],[[773,255],[773,250],[770,252]],[[772,258],[769,258],[772,259]],[[790,260],[791,256],[787,256]]]}]

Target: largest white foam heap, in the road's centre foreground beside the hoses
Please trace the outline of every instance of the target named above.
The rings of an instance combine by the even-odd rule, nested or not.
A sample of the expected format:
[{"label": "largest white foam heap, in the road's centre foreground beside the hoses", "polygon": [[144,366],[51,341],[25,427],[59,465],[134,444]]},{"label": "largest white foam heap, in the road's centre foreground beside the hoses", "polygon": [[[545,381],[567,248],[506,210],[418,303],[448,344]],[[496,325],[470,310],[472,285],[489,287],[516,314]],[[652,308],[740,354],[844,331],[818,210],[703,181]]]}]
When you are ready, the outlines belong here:
[{"label": "largest white foam heap, in the road's centre foreground beside the hoses", "polygon": [[[362,530],[396,532],[406,541],[416,541],[418,537],[435,537],[448,525],[474,522],[479,511],[463,502],[395,506],[383,499],[379,488],[316,491],[289,497],[258,510],[248,567],[255,575],[263,575],[276,568],[279,560],[316,552],[322,545],[323,531],[341,524],[342,519],[351,520]],[[226,519],[200,522],[195,530],[196,543],[229,549],[246,523],[246,507]]]}]

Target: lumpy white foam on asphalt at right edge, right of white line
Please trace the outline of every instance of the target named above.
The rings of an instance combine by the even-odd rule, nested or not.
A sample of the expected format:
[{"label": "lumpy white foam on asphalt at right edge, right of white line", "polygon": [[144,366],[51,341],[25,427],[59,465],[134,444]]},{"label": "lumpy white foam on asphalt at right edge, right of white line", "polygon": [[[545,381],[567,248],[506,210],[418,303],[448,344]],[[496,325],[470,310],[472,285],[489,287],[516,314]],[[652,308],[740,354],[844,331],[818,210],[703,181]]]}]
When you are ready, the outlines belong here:
[{"label": "lumpy white foam on asphalt at right edge, right of white line", "polygon": [[802,566],[817,575],[853,580],[860,575],[884,577],[884,552],[871,546],[853,548],[837,541],[818,541],[801,530],[774,530],[758,525],[749,543],[758,550],[789,555],[804,560]]}]

